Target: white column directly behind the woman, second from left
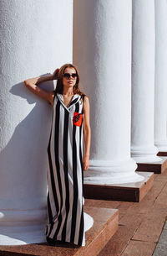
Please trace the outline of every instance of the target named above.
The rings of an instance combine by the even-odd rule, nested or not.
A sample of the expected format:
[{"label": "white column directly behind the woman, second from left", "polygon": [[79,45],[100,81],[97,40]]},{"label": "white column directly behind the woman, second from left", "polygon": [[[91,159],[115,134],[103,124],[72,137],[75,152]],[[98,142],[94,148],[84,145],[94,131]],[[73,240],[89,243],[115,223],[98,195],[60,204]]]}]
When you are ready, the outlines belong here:
[{"label": "white column directly behind the woman, second from left", "polygon": [[73,62],[90,99],[92,147],[84,182],[143,180],[130,158],[130,0],[74,1]]}]

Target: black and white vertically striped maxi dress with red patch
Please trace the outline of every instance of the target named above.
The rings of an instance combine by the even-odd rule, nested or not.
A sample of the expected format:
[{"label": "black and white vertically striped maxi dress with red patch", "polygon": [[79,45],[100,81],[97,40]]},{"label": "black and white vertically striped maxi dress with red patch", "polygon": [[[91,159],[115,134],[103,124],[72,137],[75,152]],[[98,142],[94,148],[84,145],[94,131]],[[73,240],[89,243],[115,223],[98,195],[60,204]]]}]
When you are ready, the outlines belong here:
[{"label": "black and white vertically striped maxi dress with red patch", "polygon": [[74,94],[69,106],[54,96],[48,142],[49,241],[85,245],[83,223],[83,97]]}]

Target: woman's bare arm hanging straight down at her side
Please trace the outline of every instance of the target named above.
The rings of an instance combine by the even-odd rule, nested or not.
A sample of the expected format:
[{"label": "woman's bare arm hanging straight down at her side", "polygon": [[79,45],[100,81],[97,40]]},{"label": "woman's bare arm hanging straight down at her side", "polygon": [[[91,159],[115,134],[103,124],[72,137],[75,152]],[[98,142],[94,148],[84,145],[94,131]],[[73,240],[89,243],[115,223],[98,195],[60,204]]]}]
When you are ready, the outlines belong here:
[{"label": "woman's bare arm hanging straight down at her side", "polygon": [[85,152],[83,157],[83,165],[84,170],[88,170],[89,168],[89,154],[90,154],[90,138],[91,138],[91,130],[90,130],[90,107],[89,107],[89,98],[84,98],[83,104],[83,133],[84,133],[84,142],[85,142]]}]

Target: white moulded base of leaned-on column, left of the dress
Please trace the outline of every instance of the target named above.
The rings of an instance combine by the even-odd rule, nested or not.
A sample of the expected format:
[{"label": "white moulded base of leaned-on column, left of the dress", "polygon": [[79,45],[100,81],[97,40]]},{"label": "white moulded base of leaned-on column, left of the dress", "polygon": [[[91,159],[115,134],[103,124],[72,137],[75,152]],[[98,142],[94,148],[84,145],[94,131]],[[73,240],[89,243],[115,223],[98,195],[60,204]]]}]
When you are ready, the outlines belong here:
[{"label": "white moulded base of leaned-on column, left of the dress", "polygon": [[[47,224],[47,209],[17,208],[17,201],[1,201],[0,209],[0,245],[18,245],[27,243],[43,243],[46,241],[45,228]],[[29,203],[29,202],[28,202]],[[27,205],[28,205],[27,203]],[[4,206],[3,206],[4,205]]]}]

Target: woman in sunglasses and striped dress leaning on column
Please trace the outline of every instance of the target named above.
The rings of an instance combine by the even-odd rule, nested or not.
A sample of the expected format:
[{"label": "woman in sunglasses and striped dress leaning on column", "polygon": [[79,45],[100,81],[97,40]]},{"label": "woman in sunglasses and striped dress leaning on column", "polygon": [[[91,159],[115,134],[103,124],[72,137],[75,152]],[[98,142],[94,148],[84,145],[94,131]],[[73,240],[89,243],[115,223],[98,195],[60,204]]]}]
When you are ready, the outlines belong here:
[{"label": "woman in sunglasses and striped dress leaning on column", "polygon": [[[54,79],[58,79],[55,91],[37,86]],[[53,107],[48,142],[47,241],[83,246],[83,170],[89,168],[90,150],[89,98],[80,91],[78,71],[71,64],[63,65],[53,75],[31,78],[24,83]]]}]

